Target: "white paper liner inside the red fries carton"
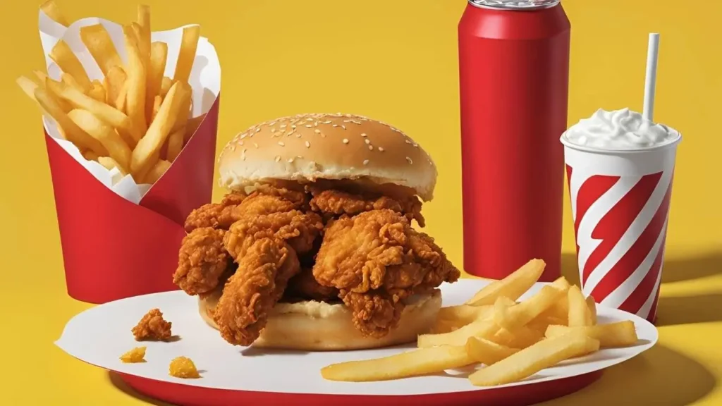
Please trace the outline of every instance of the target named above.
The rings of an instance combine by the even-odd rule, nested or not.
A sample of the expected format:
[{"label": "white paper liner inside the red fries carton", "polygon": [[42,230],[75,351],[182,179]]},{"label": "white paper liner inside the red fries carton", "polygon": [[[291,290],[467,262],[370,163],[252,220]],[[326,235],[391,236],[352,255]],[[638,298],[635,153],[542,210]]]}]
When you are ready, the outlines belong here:
[{"label": "white paper liner inside the red fries carton", "polygon": [[[50,17],[40,11],[38,25],[40,26],[40,42],[43,44],[43,53],[45,54],[45,66],[48,70],[48,76],[53,79],[60,79],[61,70],[50,59],[50,53],[53,46],[58,40],[65,40],[71,50],[80,60],[90,79],[103,80],[103,72],[92,59],[90,52],[80,39],[80,27],[87,25],[103,24],[113,45],[116,46],[118,54],[123,62],[126,62],[126,50],[123,43],[123,26],[116,22],[103,20],[96,17],[84,18],[77,20],[69,27],[64,27],[57,22],[51,20]],[[183,27],[187,27],[185,25]],[[168,63],[165,66],[165,76],[173,77],[175,72],[175,63],[178,59],[178,53],[181,50],[181,39],[183,38],[183,27],[175,28],[168,31],[155,31],[151,33],[152,41],[162,41],[168,43]],[[218,61],[218,55],[214,46],[209,43],[208,38],[199,38],[198,48],[196,50],[196,59],[193,61],[193,69],[188,79],[189,84],[193,88],[193,110],[191,117],[200,116],[209,111],[220,92],[221,67]],[[84,168],[92,173],[98,181],[108,186],[112,191],[116,192],[123,199],[138,204],[140,199],[146,194],[152,185],[136,184],[130,175],[118,179],[117,170],[108,170],[103,165],[95,161],[86,160],[72,142],[68,142],[61,138],[56,122],[51,117],[43,117],[43,125],[45,131],[63,147],[72,157],[75,158]]]}]

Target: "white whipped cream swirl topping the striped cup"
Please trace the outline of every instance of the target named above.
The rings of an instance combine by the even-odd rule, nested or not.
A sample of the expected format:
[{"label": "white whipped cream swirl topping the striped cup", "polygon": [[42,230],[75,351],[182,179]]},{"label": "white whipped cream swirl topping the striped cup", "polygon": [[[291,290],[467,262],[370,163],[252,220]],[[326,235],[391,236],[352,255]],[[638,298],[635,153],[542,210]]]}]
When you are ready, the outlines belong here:
[{"label": "white whipped cream swirl topping the striped cup", "polygon": [[589,118],[571,126],[562,140],[600,150],[641,150],[669,144],[679,139],[679,132],[646,120],[629,108],[597,110]]}]

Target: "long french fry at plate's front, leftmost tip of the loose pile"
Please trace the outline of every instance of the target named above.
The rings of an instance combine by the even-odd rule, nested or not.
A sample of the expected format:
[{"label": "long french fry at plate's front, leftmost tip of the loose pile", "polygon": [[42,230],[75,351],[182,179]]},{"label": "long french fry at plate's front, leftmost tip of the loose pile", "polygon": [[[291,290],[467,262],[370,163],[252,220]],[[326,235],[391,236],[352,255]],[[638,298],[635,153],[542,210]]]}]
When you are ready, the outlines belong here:
[{"label": "long french fry at plate's front, leftmost tip of the loose pile", "polygon": [[373,360],[336,363],[321,369],[321,376],[331,381],[386,381],[407,376],[425,375],[474,363],[466,347],[423,348]]}]

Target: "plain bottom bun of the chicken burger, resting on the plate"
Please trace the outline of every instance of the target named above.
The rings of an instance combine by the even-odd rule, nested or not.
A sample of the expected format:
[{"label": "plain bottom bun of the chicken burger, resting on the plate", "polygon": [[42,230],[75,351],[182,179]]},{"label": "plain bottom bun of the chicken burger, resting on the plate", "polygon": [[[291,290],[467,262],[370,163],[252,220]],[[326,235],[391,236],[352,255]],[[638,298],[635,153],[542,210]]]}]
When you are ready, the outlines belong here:
[{"label": "plain bottom bun of the chicken burger, resting on the plate", "polygon": [[[221,290],[199,298],[199,311],[214,329],[213,321]],[[343,303],[303,301],[277,303],[261,337],[253,347],[287,350],[339,351],[364,350],[415,342],[419,334],[429,332],[441,308],[441,293],[414,295],[406,301],[399,325],[380,338],[364,337],[354,327],[352,314]]]}]

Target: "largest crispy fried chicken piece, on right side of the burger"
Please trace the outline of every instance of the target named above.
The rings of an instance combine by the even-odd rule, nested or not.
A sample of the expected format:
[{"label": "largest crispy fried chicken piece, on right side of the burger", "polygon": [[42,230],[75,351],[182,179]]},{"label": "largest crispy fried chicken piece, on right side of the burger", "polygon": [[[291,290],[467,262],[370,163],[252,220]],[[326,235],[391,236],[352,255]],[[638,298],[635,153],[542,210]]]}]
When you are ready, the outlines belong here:
[{"label": "largest crispy fried chicken piece, on right side of the burger", "polygon": [[334,220],[326,228],[313,267],[315,279],[339,289],[354,311],[357,328],[373,337],[387,334],[398,323],[398,317],[388,317],[396,310],[388,309],[460,275],[433,238],[414,230],[406,217],[393,210]]}]

